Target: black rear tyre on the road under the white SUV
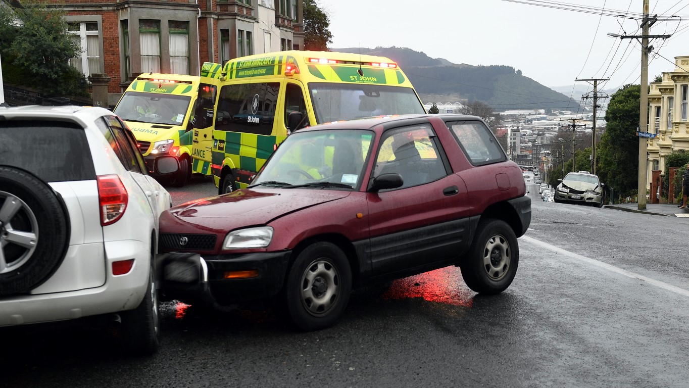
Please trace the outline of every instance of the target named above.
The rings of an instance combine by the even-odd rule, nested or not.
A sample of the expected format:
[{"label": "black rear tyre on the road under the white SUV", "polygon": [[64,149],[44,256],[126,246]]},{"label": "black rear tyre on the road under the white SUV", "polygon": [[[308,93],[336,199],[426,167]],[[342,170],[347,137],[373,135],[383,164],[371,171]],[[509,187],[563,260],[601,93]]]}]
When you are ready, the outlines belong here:
[{"label": "black rear tyre on the road under the white SUV", "polygon": [[120,314],[123,346],[130,354],[154,354],[160,344],[158,290],[154,274],[155,271],[151,267],[148,274],[148,287],[138,307]]}]

